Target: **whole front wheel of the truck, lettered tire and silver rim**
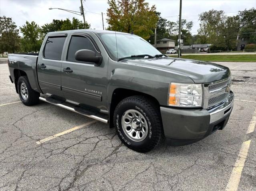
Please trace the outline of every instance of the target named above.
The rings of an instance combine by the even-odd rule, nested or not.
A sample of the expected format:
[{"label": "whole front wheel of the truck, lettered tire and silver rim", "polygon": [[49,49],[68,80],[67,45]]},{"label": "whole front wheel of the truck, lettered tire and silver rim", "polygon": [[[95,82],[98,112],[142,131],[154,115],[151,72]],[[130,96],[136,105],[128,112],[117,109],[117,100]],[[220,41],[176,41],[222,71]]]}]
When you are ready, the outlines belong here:
[{"label": "whole front wheel of the truck, lettered tire and silver rim", "polygon": [[115,108],[114,126],[125,146],[137,152],[148,152],[161,139],[159,107],[145,96],[125,98]]}]

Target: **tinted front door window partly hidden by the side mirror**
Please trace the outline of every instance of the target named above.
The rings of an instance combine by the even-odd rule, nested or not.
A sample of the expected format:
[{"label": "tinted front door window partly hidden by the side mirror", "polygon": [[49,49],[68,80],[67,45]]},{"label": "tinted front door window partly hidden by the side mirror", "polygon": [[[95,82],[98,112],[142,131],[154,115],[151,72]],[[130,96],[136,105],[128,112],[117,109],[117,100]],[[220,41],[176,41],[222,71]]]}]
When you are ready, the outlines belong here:
[{"label": "tinted front door window partly hidden by the side mirror", "polygon": [[76,53],[76,51],[81,50],[81,49],[95,51],[93,44],[87,37],[72,36],[70,44],[69,44],[67,61],[76,61],[75,53]]}]

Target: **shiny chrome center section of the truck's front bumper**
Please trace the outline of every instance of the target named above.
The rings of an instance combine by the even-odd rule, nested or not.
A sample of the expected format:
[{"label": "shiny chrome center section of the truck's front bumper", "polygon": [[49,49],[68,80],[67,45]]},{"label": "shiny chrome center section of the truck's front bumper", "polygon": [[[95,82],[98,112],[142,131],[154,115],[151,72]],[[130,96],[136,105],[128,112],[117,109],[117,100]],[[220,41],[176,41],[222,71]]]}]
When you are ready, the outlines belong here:
[{"label": "shiny chrome center section of the truck's front bumper", "polygon": [[223,118],[224,116],[230,114],[233,108],[233,102],[234,93],[230,91],[228,98],[224,103],[208,110],[208,112],[210,113],[210,123],[214,123],[219,119]]}]

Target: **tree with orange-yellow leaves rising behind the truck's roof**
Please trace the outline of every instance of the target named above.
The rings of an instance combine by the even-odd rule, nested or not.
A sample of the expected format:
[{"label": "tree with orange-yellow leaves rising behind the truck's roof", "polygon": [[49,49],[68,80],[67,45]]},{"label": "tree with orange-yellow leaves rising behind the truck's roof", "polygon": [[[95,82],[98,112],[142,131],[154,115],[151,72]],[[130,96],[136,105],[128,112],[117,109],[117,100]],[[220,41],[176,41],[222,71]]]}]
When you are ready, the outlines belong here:
[{"label": "tree with orange-yellow leaves rising behind the truck's roof", "polygon": [[108,4],[108,30],[133,32],[144,39],[153,34],[158,20],[155,6],[149,8],[145,0],[108,0]]}]

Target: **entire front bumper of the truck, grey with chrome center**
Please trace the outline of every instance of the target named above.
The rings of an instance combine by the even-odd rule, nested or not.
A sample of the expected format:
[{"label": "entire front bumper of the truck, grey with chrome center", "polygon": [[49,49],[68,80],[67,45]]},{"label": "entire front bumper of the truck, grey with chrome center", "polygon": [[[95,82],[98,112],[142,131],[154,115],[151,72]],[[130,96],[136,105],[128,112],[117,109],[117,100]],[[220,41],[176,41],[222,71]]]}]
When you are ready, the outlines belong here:
[{"label": "entire front bumper of the truck, grey with chrome center", "polygon": [[[223,129],[232,112],[234,93],[225,102],[209,110],[161,106],[165,137],[171,140],[200,140],[218,129]],[[179,142],[179,141],[178,141]]]}]

